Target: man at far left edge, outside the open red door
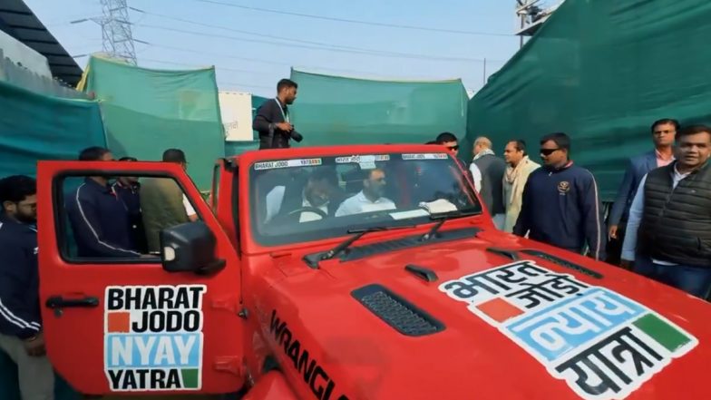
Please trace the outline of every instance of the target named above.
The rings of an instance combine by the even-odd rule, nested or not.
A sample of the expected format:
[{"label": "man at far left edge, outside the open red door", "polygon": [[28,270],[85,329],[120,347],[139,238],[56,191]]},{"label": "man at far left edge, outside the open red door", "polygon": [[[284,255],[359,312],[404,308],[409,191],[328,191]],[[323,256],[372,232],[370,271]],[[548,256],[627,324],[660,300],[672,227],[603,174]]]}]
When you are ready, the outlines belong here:
[{"label": "man at far left edge, outside the open red door", "polygon": [[17,365],[23,399],[51,400],[54,371],[44,355],[40,317],[34,179],[0,180],[0,201],[0,351]]}]

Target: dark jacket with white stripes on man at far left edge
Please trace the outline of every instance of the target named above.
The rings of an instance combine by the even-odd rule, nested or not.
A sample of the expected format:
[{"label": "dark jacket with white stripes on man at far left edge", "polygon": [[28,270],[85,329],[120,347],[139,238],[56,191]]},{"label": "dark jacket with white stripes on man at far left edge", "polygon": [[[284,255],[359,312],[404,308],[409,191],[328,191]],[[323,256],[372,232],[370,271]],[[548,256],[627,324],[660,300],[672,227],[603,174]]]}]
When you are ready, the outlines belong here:
[{"label": "dark jacket with white stripes on man at far left edge", "polygon": [[0,333],[26,339],[42,326],[37,230],[0,214]]}]

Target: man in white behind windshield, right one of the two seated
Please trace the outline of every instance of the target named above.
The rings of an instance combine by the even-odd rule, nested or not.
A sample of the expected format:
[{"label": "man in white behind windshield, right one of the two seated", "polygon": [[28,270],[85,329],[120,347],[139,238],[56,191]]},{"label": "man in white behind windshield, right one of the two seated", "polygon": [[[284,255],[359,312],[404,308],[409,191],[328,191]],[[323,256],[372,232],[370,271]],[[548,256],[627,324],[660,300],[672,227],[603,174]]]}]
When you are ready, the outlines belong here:
[{"label": "man in white behind windshield, right one of the two seated", "polygon": [[347,199],[336,211],[336,217],[382,210],[394,210],[395,203],[385,195],[385,171],[379,168],[366,171],[363,190]]}]

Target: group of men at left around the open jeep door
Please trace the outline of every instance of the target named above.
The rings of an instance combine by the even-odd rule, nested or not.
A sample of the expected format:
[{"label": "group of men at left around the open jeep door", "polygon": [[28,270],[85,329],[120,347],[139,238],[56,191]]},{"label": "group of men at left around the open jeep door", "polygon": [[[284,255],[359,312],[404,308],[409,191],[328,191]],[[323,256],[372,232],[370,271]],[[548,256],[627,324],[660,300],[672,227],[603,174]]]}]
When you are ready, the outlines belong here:
[{"label": "group of men at left around the open jeep door", "polygon": [[[115,160],[108,149],[90,147],[79,161]],[[187,168],[178,149],[164,151],[162,161]],[[39,304],[36,181],[24,175],[0,180],[0,203],[0,351],[17,365],[24,400],[51,400],[54,371],[45,356]],[[162,229],[198,219],[180,186],[167,178],[86,177],[67,190],[64,207],[79,258],[153,258]]]}]

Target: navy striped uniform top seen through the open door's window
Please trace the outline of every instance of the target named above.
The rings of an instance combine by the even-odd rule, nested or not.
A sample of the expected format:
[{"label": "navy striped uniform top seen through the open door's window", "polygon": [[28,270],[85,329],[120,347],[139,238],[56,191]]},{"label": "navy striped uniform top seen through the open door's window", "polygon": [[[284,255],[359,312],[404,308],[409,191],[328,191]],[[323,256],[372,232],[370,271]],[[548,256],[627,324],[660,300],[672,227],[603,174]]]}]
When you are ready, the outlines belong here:
[{"label": "navy striped uniform top seen through the open door's window", "polygon": [[79,257],[131,258],[129,211],[111,186],[87,178],[66,200]]}]

